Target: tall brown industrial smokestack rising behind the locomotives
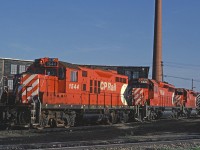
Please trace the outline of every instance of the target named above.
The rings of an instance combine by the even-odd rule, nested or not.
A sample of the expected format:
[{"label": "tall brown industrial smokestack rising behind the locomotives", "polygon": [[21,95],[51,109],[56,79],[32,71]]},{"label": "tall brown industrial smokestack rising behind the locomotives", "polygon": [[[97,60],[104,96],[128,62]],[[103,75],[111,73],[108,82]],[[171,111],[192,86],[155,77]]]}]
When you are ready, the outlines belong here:
[{"label": "tall brown industrial smokestack rising behind the locomotives", "polygon": [[162,76],[162,0],[155,0],[152,79],[163,81]]}]

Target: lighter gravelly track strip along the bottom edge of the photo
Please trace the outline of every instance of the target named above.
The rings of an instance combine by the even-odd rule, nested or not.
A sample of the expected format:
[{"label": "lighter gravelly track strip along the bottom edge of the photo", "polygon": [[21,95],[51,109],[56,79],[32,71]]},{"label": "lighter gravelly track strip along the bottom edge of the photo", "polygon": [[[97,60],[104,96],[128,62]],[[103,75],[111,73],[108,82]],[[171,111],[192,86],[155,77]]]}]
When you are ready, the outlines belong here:
[{"label": "lighter gravelly track strip along the bottom edge of the photo", "polygon": [[0,145],[0,149],[46,149],[46,150],[83,150],[83,149],[188,149],[200,147],[200,135],[190,135],[181,139],[156,140],[130,142],[127,140],[109,140],[109,141],[79,141],[79,142],[50,142],[50,143],[30,143],[15,145]]}]

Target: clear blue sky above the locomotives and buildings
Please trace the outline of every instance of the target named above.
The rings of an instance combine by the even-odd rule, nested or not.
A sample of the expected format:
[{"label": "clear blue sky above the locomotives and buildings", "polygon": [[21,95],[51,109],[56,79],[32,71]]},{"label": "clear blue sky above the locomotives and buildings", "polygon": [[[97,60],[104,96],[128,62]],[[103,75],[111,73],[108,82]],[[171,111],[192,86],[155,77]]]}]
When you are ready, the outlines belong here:
[{"label": "clear blue sky above the locomotives and buildings", "polygon": [[[163,0],[164,74],[184,78],[165,81],[191,88],[194,78],[196,90],[199,8],[200,0]],[[0,0],[0,20],[0,57],[152,65],[154,0]]]}]

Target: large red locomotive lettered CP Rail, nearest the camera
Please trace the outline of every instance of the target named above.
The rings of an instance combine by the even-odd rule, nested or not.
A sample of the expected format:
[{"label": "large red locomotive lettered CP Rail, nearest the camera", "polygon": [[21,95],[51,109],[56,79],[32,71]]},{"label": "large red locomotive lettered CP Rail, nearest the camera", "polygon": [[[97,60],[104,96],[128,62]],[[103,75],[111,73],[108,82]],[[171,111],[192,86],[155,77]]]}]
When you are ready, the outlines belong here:
[{"label": "large red locomotive lettered CP Rail, nearest the camera", "polygon": [[77,119],[94,117],[112,122],[128,120],[128,77],[116,71],[41,58],[16,80],[19,124],[74,126]]}]

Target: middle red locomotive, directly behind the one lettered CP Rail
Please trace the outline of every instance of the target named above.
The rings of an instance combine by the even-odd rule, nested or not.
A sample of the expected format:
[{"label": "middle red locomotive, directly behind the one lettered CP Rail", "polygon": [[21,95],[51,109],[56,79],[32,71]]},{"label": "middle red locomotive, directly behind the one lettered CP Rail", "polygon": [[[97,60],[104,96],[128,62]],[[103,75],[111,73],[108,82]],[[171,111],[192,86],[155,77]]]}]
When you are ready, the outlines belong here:
[{"label": "middle red locomotive, directly behind the one lettered CP Rail", "polygon": [[175,87],[165,82],[139,78],[132,81],[133,105],[139,119],[161,117],[164,111],[174,107]]}]

